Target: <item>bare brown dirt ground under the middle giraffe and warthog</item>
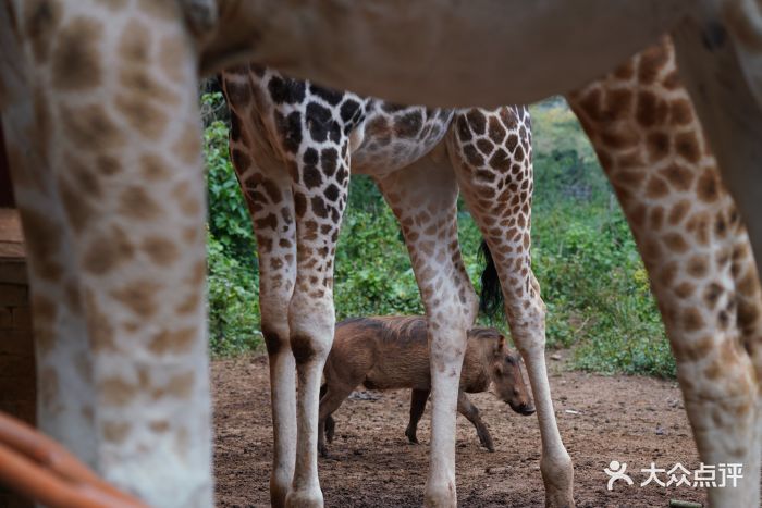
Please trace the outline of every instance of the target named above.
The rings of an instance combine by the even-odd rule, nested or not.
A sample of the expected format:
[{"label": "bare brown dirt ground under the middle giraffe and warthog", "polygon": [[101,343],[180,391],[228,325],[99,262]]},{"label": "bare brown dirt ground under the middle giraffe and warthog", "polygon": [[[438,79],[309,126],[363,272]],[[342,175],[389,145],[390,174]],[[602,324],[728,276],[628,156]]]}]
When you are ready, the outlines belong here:
[{"label": "bare brown dirt ground under the middle giraffe and warthog", "polygon": [[[669,499],[705,503],[700,488],[639,486],[648,476],[640,470],[651,462],[667,470],[677,462],[690,471],[699,466],[676,383],[563,372],[562,364],[551,361],[550,382],[561,434],[574,461],[578,507],[666,507]],[[218,506],[269,506],[267,358],[216,361],[212,373]],[[490,393],[470,398],[490,429],[495,453],[481,448],[471,424],[458,418],[459,506],[543,506],[537,418],[514,413]],[[331,457],[319,462],[325,506],[422,506],[430,414],[427,408],[419,425],[421,445],[408,444],[408,400],[404,391],[361,392],[334,413]],[[616,482],[612,492],[606,490],[603,469],[612,460],[627,463],[632,486]],[[664,474],[661,479],[667,480]]]}]

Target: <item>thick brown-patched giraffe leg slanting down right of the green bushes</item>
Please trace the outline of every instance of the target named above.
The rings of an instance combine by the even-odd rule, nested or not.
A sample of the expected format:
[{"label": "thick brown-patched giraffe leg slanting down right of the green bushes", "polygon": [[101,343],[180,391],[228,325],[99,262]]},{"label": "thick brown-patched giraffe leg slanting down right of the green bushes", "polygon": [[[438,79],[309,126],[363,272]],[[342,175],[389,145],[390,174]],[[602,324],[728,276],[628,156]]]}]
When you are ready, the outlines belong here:
[{"label": "thick brown-patched giraffe leg slanting down right of the green bushes", "polygon": [[[627,73],[639,77],[622,86]],[[659,145],[675,150],[644,143],[665,132],[666,115],[636,117],[610,110],[614,101],[609,98],[620,102],[623,94],[655,99],[653,112],[674,111]],[[569,99],[649,272],[701,461],[717,468],[742,464],[738,486],[709,488],[710,504],[758,506],[759,280],[733,199],[677,78],[671,45],[662,41]],[[616,143],[625,138],[632,144]]]}]

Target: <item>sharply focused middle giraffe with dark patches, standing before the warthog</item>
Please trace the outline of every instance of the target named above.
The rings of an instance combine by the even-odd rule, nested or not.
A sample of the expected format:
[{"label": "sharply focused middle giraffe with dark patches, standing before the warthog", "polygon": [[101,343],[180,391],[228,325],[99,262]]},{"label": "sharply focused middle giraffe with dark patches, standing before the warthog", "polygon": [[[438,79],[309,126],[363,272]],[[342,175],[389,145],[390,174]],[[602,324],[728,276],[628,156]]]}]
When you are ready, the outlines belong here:
[{"label": "sharply focused middle giraffe with dark patches, standing before the warthog", "polygon": [[572,504],[572,462],[550,398],[545,310],[529,256],[528,110],[401,107],[255,65],[226,70],[221,80],[231,158],[258,244],[273,410],[272,504],[322,504],[317,394],[333,340],[333,260],[351,172],[370,175],[396,215],[427,311],[433,387],[427,505],[455,503],[457,384],[477,313],[457,241],[458,189],[506,281],[509,324],[542,429],[543,476],[568,479],[554,495]]}]

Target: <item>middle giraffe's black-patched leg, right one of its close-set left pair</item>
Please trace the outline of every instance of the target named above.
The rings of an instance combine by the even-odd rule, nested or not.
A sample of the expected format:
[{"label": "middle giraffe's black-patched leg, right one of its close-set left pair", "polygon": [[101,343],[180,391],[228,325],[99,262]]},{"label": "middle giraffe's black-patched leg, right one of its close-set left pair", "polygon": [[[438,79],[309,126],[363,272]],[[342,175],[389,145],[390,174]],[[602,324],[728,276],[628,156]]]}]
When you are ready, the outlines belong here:
[{"label": "middle giraffe's black-patched leg, right one of its close-set left pair", "polygon": [[[270,264],[294,263],[296,273],[287,312],[282,311],[281,302],[280,315],[273,315],[274,320],[287,319],[287,327],[276,331],[278,343],[283,342],[280,334],[287,331],[298,382],[295,418],[281,421],[282,425],[296,425],[294,473],[285,505],[322,506],[317,466],[320,377],[335,323],[333,261],[349,182],[348,133],[362,104],[345,98],[331,111],[321,103],[329,100],[325,97],[333,102],[335,92],[311,84],[307,90],[306,83],[255,66],[229,70],[223,73],[223,79],[229,104],[236,110],[231,136],[245,140],[243,150],[233,146],[232,157],[239,159],[236,165],[245,166],[247,159],[256,154],[276,162],[280,174],[290,179],[287,193],[280,186],[262,183],[261,193],[253,195],[251,206],[268,199],[280,201],[283,194],[293,202],[293,209],[290,206],[285,213],[290,216],[286,222],[293,220],[295,224],[295,234],[293,238],[278,239],[279,247],[290,249],[285,255],[290,259],[270,261]],[[255,230],[283,230],[279,218],[283,213],[283,209],[263,212],[255,219]],[[291,381],[273,380],[273,383],[285,382]],[[293,407],[291,401],[288,406]],[[288,439],[290,445],[293,443],[293,438]]]}]

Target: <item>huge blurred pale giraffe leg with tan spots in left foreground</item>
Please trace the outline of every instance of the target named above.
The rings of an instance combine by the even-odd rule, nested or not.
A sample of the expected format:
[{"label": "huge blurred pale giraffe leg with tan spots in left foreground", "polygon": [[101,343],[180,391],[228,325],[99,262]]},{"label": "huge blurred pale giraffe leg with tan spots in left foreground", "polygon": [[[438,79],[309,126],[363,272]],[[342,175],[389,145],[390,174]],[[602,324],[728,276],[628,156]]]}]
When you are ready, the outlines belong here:
[{"label": "huge blurred pale giraffe leg with tan spots in left foreground", "polygon": [[[86,318],[96,464],[152,506],[211,506],[196,55],[176,15],[160,20],[136,4],[118,13],[91,2],[63,9],[61,30],[82,33],[108,16],[109,40],[121,44],[88,39],[102,47],[36,92],[37,117],[46,119],[40,143],[48,141],[41,153],[65,216],[64,231],[52,233],[71,238],[77,274],[67,301],[78,295]],[[173,48],[169,69],[151,51],[164,44]],[[123,50],[136,46],[137,66],[135,51]],[[48,65],[35,67],[33,84],[51,82],[56,65]],[[150,94],[136,76],[151,83]],[[47,259],[70,261],[48,250]]]}]

